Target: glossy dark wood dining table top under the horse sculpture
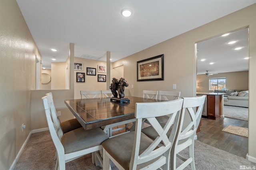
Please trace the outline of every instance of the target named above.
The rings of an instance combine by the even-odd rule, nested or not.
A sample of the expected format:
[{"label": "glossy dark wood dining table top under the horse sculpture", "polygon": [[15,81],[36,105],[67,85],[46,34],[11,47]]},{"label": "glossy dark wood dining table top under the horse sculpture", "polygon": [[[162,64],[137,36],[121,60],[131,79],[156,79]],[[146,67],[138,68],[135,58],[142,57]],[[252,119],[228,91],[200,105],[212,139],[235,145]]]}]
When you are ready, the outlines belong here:
[{"label": "glossy dark wood dining table top under the horse sculpture", "polygon": [[135,104],[142,102],[163,102],[162,100],[125,96],[130,102],[110,102],[110,98],[65,100],[84,129],[94,129],[112,123],[134,119]]}]

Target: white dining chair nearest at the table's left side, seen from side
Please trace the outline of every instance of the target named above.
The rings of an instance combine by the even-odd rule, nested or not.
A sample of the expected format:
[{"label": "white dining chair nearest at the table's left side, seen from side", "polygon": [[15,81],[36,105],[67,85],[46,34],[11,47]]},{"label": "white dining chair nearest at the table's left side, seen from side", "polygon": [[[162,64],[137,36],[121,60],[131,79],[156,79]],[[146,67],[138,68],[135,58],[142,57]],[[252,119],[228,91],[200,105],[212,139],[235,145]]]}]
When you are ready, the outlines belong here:
[{"label": "white dining chair nearest at the table's left side, seen from side", "polygon": [[[57,150],[56,167],[57,170],[65,170],[65,164],[79,158],[85,154],[92,153],[92,163],[102,164],[100,156],[94,152],[102,150],[101,143],[108,139],[107,135],[100,128],[84,130],[83,127],[63,134],[58,121],[53,121],[51,115],[56,115],[52,96],[42,97],[46,119],[52,137],[52,141]],[[61,136],[61,137],[60,137]]]}]

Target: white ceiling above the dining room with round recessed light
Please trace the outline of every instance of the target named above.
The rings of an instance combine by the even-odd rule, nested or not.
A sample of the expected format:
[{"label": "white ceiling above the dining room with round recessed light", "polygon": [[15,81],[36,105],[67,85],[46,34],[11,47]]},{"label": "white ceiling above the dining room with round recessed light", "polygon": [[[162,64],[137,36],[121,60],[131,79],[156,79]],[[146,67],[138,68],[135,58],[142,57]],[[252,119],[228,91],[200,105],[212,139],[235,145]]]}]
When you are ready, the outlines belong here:
[{"label": "white ceiling above the dining room with round recessed light", "polygon": [[[75,57],[106,61],[106,51],[110,51],[114,62],[256,3],[256,0],[16,1],[42,55],[42,67],[46,68],[50,68],[52,57],[56,62],[66,61],[69,43],[75,45]],[[132,16],[123,17],[123,8],[132,9]],[[203,52],[207,47],[202,45],[201,50],[199,47],[198,58],[200,53],[206,56]],[[210,56],[217,59],[219,55],[207,55]],[[202,72],[199,69],[198,63],[198,73]],[[206,69],[217,71],[208,65],[202,70]]]}]

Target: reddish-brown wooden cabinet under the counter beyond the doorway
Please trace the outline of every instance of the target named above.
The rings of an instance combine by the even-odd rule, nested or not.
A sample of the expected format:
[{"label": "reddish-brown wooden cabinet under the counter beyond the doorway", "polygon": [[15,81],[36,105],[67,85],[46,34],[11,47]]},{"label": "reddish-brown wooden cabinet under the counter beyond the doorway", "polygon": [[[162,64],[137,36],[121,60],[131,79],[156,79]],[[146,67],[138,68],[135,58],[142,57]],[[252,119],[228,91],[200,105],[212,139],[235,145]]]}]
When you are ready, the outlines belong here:
[{"label": "reddish-brown wooden cabinet under the counter beyond the doorway", "polygon": [[207,117],[220,118],[220,95],[207,95]]}]

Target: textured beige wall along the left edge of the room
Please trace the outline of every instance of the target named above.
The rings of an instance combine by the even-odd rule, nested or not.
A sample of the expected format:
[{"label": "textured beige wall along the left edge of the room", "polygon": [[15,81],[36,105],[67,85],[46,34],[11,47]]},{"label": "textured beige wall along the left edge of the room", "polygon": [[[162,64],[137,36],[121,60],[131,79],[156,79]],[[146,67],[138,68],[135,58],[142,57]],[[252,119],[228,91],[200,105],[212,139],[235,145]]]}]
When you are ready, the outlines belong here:
[{"label": "textured beige wall along the left edge of the room", "polygon": [[0,1],[0,49],[0,169],[7,170],[31,131],[30,92],[41,59],[15,0]]}]

